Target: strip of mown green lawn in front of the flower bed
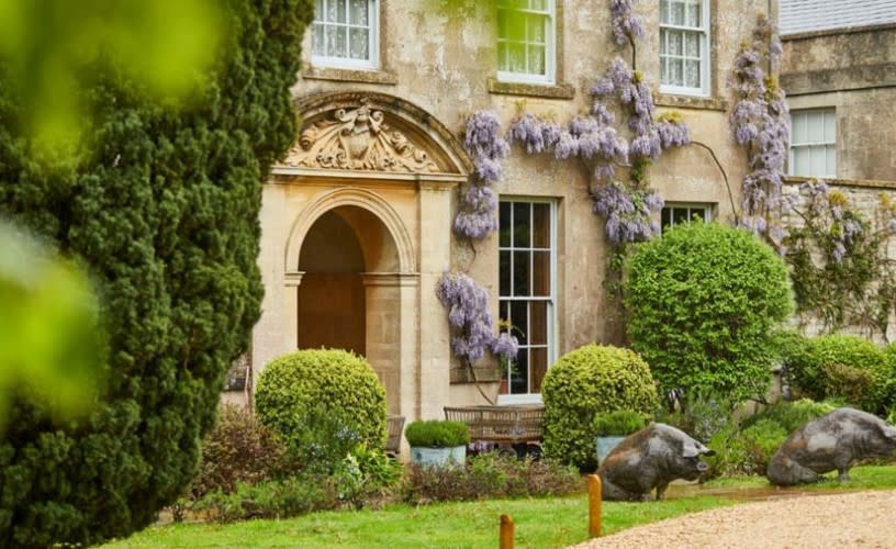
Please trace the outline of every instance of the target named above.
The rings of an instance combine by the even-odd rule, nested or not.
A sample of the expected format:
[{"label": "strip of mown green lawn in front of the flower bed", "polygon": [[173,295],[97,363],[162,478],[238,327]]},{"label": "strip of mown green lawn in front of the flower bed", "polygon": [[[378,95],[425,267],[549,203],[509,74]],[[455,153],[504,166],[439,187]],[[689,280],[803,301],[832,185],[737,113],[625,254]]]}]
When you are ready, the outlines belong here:
[{"label": "strip of mown green lawn in front of the flower bed", "polygon": [[[862,467],[845,485],[825,482],[808,490],[896,489],[896,466]],[[718,492],[730,491],[730,495]],[[775,489],[759,478],[724,479],[664,502],[604,502],[604,534],[687,513],[733,505],[739,491]],[[806,490],[800,488],[798,490]],[[701,492],[713,492],[713,495]],[[509,514],[516,525],[515,546],[565,547],[587,539],[587,498],[489,500],[384,511],[326,512],[285,520],[156,526],[108,548],[130,547],[438,547],[497,545],[499,520]]]}]

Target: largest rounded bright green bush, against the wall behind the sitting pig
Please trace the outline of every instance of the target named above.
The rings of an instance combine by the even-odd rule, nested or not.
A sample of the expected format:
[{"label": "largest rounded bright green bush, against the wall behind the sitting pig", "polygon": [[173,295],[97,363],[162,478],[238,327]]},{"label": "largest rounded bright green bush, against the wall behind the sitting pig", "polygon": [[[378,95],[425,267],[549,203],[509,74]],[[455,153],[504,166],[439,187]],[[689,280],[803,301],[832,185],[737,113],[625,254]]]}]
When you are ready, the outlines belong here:
[{"label": "largest rounded bright green bush, against the wall behind the sitting pig", "polygon": [[733,401],[764,394],[773,328],[791,311],[787,270],[751,233],[676,225],[627,264],[631,346],[663,392],[708,388]]}]

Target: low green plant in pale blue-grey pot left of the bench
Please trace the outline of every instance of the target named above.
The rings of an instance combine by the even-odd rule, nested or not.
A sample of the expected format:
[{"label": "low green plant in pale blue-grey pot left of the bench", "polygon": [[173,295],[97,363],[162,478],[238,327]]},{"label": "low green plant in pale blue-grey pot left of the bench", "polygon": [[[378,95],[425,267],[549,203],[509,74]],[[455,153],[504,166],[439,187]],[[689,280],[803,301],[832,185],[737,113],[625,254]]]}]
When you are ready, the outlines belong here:
[{"label": "low green plant in pale blue-grey pot left of the bench", "polygon": [[470,428],[461,422],[438,419],[412,422],[404,429],[411,446],[411,462],[425,466],[445,466],[467,460]]}]

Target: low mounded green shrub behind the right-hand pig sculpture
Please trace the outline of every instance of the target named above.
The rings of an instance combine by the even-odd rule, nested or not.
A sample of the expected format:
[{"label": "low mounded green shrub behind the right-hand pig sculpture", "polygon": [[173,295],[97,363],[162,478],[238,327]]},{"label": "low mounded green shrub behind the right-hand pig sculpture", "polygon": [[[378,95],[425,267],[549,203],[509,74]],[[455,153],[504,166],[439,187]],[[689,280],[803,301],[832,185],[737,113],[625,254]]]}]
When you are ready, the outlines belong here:
[{"label": "low mounded green shrub behind the right-hand pig sculpture", "polygon": [[798,396],[840,399],[877,413],[884,407],[887,370],[886,354],[872,341],[832,334],[810,338],[805,351],[788,359],[786,373]]}]

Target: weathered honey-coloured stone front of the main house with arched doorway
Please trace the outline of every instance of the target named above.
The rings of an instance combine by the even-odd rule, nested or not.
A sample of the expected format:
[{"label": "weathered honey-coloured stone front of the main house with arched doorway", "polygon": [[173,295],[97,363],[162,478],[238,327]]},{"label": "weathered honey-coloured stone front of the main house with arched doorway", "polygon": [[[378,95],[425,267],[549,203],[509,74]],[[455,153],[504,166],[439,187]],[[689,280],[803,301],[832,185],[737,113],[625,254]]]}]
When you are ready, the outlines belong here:
[{"label": "weathered honey-coloured stone front of the main house with arched doorway", "polygon": [[[609,1],[317,5],[293,89],[301,130],[264,187],[266,294],[254,376],[295,348],[345,347],[371,362],[391,414],[434,418],[446,405],[485,403],[452,359],[436,296],[446,270],[468,272],[489,290],[492,315],[525,332],[507,389],[494,359],[477,365],[480,388],[500,403],[539,401],[546,369],[564,352],[620,343],[617,305],[604,289],[604,221],[592,213],[591,177],[576,160],[514,147],[494,186],[501,231],[475,253],[452,232],[472,170],[461,146],[466,119],[490,110],[506,130],[520,109],[563,123],[586,112],[589,90],[612,60],[631,63],[631,49],[614,41]],[[650,183],[669,217],[727,221],[739,203],[746,155],[730,137],[727,77],[757,14],[770,8],[766,0],[636,2],[647,35],[635,63],[658,110],[679,111],[731,182],[707,148],[665,153]],[[503,26],[513,16],[526,21],[524,36]],[[671,59],[662,74],[661,58]],[[688,76],[688,67],[698,72]]]}]

